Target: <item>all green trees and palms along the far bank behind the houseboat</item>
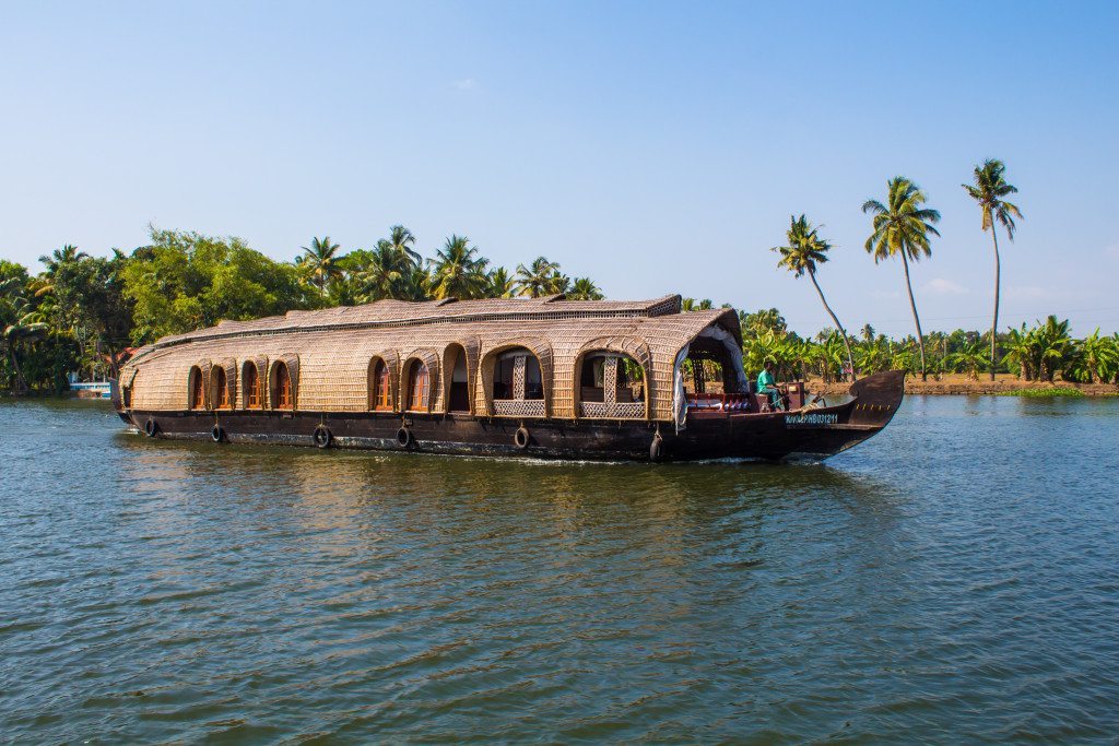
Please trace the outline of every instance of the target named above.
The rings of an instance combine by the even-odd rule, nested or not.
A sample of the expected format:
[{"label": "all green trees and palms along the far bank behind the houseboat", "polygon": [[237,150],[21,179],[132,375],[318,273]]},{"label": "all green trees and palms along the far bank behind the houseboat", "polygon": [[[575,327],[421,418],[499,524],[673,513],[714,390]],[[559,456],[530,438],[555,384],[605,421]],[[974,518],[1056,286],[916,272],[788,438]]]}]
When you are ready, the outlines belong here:
[{"label": "all green trees and palms along the far bank behind the houseboat", "polygon": [[[866,324],[848,334],[819,281],[835,247],[805,215],[791,217],[786,245],[774,247],[778,266],[808,276],[834,328],[801,338],[788,329],[778,309],[741,312],[743,359],[749,372],[773,360],[780,377],[817,378],[825,385],[872,372],[902,369],[932,384],[963,374],[978,381],[1013,375],[1032,390],[1053,390],[1055,381],[1119,385],[1119,334],[1094,332],[1074,339],[1069,321],[1050,315],[1034,325],[999,332],[999,267],[996,227],[1013,239],[1017,206],[1006,197],[1002,161],[988,160],[962,185],[980,207],[981,229],[995,249],[995,314],[990,330],[951,332],[921,329],[909,265],[932,255],[940,213],[911,179],[894,177],[886,201],[869,199],[869,236],[864,248],[875,263],[900,259],[914,334],[892,339]],[[545,256],[509,268],[493,265],[466,236],[452,235],[424,257],[416,237],[393,226],[366,248],[344,249],[329,236],[313,237],[291,262],[278,262],[239,238],[215,238],[151,228],[149,243],[126,254],[92,257],[66,245],[40,257],[32,275],[0,259],[0,389],[17,394],[59,391],[67,374],[84,378],[115,376],[131,348],[216,324],[291,310],[357,305],[383,299],[424,301],[444,298],[540,298],[563,293],[572,300],[600,300],[589,276],[571,277]],[[709,300],[684,300],[684,310],[713,308]],[[714,380],[716,371],[708,378]],[[932,389],[930,389],[932,390]]]}]

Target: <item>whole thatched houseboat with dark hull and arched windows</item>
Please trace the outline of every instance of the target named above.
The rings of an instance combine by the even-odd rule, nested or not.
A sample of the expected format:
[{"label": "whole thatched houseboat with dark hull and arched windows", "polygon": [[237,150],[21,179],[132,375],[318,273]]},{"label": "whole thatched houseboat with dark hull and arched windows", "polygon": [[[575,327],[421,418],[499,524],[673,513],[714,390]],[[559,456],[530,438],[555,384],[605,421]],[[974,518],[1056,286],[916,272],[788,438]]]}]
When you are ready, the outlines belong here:
[{"label": "whole thatched houseboat with dark hull and arched windows", "polygon": [[575,460],[820,460],[901,405],[751,390],[731,309],[680,298],[378,301],[166,337],[122,368],[121,418],[153,438]]}]

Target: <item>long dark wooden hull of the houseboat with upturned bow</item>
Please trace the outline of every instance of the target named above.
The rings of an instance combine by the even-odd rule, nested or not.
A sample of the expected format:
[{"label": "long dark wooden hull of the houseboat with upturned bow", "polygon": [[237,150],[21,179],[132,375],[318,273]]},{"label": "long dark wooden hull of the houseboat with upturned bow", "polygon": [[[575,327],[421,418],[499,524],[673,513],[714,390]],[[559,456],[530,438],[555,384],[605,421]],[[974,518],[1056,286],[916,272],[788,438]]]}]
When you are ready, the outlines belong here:
[{"label": "long dark wooden hull of the houseboat with upturned bow", "polygon": [[[648,422],[479,418],[467,414],[424,415],[311,412],[143,412],[121,418],[153,437],[213,441],[215,425],[229,443],[314,446],[329,432],[329,447],[411,451],[454,455],[594,461],[649,461],[659,437],[659,461],[706,459],[820,460],[862,443],[881,431],[901,405],[903,376],[878,374],[852,387],[850,402],[799,413],[692,413],[687,427]],[[517,431],[528,432],[519,447]],[[401,436],[402,426],[408,437]],[[407,440],[406,445],[401,441]]]}]

